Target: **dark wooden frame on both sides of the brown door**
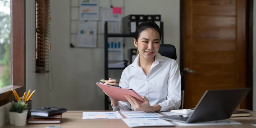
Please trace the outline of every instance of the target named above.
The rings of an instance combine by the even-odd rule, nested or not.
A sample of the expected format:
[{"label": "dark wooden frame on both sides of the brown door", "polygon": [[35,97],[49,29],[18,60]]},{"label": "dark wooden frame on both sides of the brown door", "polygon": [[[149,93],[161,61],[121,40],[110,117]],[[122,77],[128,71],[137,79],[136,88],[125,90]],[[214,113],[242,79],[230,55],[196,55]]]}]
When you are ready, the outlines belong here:
[{"label": "dark wooden frame on both sides of the brown door", "polygon": [[[180,70],[183,72],[183,43],[184,43],[184,1],[180,0]],[[247,95],[247,108],[253,110],[253,0],[247,0],[246,15],[246,68],[247,68],[247,87],[251,90]],[[256,49],[255,49],[256,50]]]}]

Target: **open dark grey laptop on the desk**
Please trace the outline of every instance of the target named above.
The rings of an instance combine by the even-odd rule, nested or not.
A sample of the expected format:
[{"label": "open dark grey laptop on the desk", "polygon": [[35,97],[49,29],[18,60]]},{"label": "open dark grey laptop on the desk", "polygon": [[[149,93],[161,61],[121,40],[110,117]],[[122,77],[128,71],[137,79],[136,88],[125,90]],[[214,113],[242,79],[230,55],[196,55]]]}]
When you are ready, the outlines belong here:
[{"label": "open dark grey laptop on the desk", "polygon": [[192,114],[162,116],[160,119],[195,123],[228,119],[236,111],[250,88],[207,90],[199,100]]}]

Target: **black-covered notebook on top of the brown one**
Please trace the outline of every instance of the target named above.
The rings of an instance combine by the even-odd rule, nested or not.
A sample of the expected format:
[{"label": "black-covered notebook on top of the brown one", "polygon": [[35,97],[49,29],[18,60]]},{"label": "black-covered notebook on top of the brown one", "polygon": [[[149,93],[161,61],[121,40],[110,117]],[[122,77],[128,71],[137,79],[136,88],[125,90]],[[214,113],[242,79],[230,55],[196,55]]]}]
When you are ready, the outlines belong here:
[{"label": "black-covered notebook on top of the brown one", "polygon": [[43,107],[43,108],[38,108],[35,110],[31,110],[31,116],[52,116],[52,115],[57,115],[66,112],[66,108],[59,108],[59,107]]}]

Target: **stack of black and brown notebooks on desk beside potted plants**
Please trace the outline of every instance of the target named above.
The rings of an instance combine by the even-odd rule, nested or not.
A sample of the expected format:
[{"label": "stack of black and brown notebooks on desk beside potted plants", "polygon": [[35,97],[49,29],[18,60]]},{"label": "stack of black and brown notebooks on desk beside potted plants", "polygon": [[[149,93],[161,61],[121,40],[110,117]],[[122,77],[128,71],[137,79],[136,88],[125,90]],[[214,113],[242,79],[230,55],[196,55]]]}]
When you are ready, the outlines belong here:
[{"label": "stack of black and brown notebooks on desk beside potted plants", "polygon": [[31,116],[27,120],[28,124],[55,124],[61,123],[62,113],[66,108],[43,107],[31,110]]}]

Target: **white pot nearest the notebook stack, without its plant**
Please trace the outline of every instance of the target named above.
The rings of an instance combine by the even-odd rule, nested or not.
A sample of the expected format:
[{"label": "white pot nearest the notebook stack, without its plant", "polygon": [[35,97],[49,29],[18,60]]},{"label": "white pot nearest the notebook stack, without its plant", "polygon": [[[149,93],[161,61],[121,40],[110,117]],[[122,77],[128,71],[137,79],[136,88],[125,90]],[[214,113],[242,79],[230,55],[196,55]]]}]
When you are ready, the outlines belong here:
[{"label": "white pot nearest the notebook stack, without its plant", "polygon": [[28,113],[26,111],[23,111],[23,113],[15,113],[14,115],[15,126],[25,126],[27,114]]}]

